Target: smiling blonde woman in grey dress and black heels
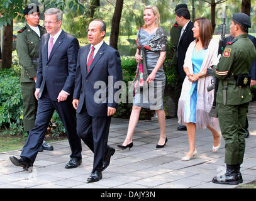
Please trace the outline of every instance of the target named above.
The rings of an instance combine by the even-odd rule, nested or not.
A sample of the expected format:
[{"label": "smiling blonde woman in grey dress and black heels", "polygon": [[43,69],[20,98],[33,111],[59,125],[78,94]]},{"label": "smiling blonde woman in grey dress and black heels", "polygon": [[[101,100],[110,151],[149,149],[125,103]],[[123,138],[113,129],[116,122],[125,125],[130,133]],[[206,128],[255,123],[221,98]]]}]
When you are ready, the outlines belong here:
[{"label": "smiling blonde woman in grey dress and black heels", "polygon": [[[133,146],[132,137],[143,108],[155,110],[159,119],[160,139],[156,148],[163,148],[167,143],[165,136],[164,88],[167,38],[159,26],[160,16],[157,6],[147,6],[143,11],[145,25],[138,30],[135,58],[138,62],[134,82],[133,109],[131,111],[126,139],[121,149]],[[142,65],[143,63],[143,65]]]}]

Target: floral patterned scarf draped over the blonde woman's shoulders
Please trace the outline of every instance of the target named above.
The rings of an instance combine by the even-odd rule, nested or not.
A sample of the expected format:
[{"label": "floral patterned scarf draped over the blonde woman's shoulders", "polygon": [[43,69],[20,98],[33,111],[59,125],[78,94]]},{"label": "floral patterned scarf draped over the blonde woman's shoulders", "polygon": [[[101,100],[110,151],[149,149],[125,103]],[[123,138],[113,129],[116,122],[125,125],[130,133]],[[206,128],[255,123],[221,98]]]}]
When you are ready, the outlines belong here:
[{"label": "floral patterned scarf draped over the blonde woman's shoulders", "polygon": [[142,46],[140,42],[140,31],[142,29],[143,27],[137,32],[136,43],[138,45],[138,49],[140,50],[140,56],[143,58],[143,60],[142,63],[138,63],[137,65],[135,79],[133,80],[133,95],[135,95],[136,90],[139,88],[142,89],[143,85],[146,84],[145,81],[148,77],[146,50],[153,52],[165,52],[167,49],[167,38],[162,27],[159,26],[155,34],[144,46]]}]

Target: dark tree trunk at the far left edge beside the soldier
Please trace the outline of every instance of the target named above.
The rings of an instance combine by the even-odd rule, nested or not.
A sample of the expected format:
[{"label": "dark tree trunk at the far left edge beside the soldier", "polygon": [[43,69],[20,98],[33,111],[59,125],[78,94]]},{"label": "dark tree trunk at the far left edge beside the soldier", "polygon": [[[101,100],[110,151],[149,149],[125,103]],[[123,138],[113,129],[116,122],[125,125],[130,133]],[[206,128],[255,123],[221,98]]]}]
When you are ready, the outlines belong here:
[{"label": "dark tree trunk at the far left edge beside the soldier", "polygon": [[11,68],[11,53],[13,47],[13,21],[4,26],[2,68]]}]

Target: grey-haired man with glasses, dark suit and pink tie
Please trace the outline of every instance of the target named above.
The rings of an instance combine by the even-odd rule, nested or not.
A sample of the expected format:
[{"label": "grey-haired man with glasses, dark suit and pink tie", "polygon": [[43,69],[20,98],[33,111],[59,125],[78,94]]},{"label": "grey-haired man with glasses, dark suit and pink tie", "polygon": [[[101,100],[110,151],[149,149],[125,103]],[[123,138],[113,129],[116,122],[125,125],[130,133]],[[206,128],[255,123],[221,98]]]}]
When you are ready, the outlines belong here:
[{"label": "grey-haired man with glasses, dark suit and pink tie", "polygon": [[81,139],[76,132],[76,114],[72,107],[79,42],[61,29],[60,9],[50,8],[45,11],[44,24],[47,34],[42,36],[36,74],[35,97],[38,99],[38,110],[35,127],[26,139],[21,158],[11,156],[10,160],[25,170],[33,166],[45,131],[56,110],[65,126],[72,152],[65,168],[75,168],[82,162]]}]

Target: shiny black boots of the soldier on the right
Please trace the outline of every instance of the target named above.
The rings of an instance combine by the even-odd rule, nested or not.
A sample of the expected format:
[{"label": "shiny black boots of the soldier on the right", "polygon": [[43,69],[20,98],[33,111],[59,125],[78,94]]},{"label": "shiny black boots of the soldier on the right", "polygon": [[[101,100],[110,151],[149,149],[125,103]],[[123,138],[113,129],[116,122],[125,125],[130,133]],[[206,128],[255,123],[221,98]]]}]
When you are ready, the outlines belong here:
[{"label": "shiny black boots of the soldier on the right", "polygon": [[237,185],[238,183],[242,183],[242,175],[238,176],[237,169],[237,165],[226,164],[226,173],[220,177],[213,177],[212,182],[228,185]]}]

